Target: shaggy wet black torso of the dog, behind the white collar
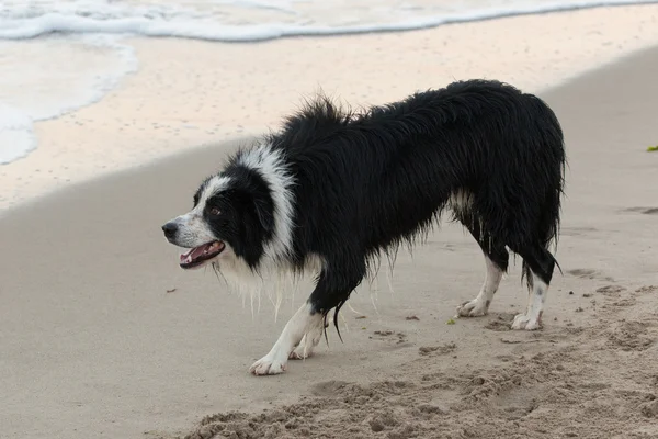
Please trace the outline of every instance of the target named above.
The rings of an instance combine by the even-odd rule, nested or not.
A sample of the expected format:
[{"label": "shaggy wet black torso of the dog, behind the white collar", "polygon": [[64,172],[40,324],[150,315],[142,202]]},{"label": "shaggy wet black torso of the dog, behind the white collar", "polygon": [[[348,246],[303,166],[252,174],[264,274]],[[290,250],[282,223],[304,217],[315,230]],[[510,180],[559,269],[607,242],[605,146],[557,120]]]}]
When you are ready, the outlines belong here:
[{"label": "shaggy wet black torso of the dog, behind the white collar", "polygon": [[445,207],[513,247],[533,234],[547,244],[558,227],[559,123],[538,98],[497,81],[456,82],[363,114],[319,100],[274,145],[296,176],[308,251],[349,239],[354,251],[377,252],[412,240]]}]

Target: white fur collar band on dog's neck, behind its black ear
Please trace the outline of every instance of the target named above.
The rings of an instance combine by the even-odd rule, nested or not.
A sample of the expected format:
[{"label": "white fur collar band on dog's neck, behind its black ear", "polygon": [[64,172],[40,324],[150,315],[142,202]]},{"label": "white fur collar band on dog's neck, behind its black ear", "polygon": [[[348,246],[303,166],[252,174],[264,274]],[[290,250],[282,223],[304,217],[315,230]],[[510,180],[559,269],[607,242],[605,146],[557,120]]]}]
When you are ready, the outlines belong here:
[{"label": "white fur collar band on dog's neck, behind its black ear", "polygon": [[294,200],[291,176],[285,157],[272,145],[260,145],[242,153],[237,162],[257,171],[270,188],[274,203],[274,236],[268,243],[265,251],[272,258],[290,255],[293,243]]}]

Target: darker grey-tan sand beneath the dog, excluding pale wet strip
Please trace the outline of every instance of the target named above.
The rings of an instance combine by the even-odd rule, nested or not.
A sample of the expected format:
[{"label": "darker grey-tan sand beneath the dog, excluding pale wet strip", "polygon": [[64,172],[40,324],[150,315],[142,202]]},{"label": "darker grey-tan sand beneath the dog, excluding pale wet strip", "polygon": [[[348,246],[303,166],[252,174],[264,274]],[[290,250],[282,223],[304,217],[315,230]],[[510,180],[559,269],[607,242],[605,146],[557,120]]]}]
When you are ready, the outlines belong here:
[{"label": "darker grey-tan sand beneath the dog, excluding pale wet strip", "polygon": [[330,331],[287,373],[249,375],[305,294],[277,322],[266,302],[252,320],[211,272],[181,271],[159,230],[235,144],[9,212],[0,437],[658,437],[656,71],[651,49],[541,93],[570,168],[565,275],[536,333],[507,329],[525,303],[519,261],[489,316],[446,325],[484,275],[477,245],[451,225],[400,255],[376,309],[368,290],[353,296],[344,344]]}]

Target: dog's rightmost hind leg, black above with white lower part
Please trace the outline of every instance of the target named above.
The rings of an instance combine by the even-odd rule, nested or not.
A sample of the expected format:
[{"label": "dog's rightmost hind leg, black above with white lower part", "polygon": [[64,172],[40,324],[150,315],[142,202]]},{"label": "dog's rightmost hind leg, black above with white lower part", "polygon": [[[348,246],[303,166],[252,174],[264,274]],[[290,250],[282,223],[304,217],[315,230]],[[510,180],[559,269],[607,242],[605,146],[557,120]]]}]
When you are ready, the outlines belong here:
[{"label": "dog's rightmost hind leg, black above with white lower part", "polygon": [[514,252],[523,258],[523,274],[527,278],[529,292],[525,313],[514,317],[512,329],[538,329],[542,327],[542,314],[555,269],[555,258],[540,244]]}]

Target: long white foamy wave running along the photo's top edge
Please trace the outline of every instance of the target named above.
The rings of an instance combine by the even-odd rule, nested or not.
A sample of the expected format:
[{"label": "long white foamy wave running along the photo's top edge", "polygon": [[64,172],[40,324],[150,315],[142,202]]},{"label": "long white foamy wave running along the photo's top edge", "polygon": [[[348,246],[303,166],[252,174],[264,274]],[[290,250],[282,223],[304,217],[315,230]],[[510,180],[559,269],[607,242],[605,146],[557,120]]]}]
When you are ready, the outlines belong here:
[{"label": "long white foamy wave running along the photo's top edge", "polygon": [[[207,1],[207,0],[206,0]],[[333,1],[336,2],[336,1]],[[383,14],[388,19],[379,20],[382,13],[368,19],[367,13],[361,14],[367,8],[361,5],[361,18],[356,24],[309,24],[321,22],[324,13],[332,11],[332,1],[324,1],[310,12],[298,13],[288,1],[207,1],[206,8],[190,9],[184,0],[181,4],[139,4],[132,7],[117,5],[105,1],[69,1],[58,2],[50,7],[43,2],[39,8],[26,8],[3,11],[0,13],[0,38],[24,40],[34,38],[56,32],[60,33],[104,33],[104,34],[136,34],[144,36],[171,36],[225,42],[254,42],[284,36],[337,35],[387,31],[409,31],[439,26],[446,23],[490,20],[502,16],[537,14],[556,11],[568,11],[583,8],[611,7],[625,4],[658,3],[658,0],[580,0],[580,1],[470,1],[463,9],[445,5],[440,13],[428,15],[436,8],[413,7],[411,1],[406,7],[385,9]],[[304,2],[302,2],[304,3]],[[311,2],[313,3],[313,2]],[[334,15],[351,13],[349,2],[337,2],[343,11],[332,11]],[[382,5],[376,1],[367,1],[372,8]],[[427,3],[427,2],[420,2]],[[439,2],[441,3],[441,2]],[[452,3],[452,2],[447,2]],[[16,7],[20,3],[15,3]],[[41,4],[41,3],[39,3]],[[315,4],[315,3],[314,3]],[[230,7],[230,8],[229,8]],[[231,8],[240,7],[242,12],[235,13]],[[227,12],[223,8],[229,8]],[[279,14],[264,20],[266,23],[250,23],[249,13],[245,10],[271,10]],[[54,11],[54,12],[53,12]],[[276,20],[282,13],[298,16],[298,20],[283,22]],[[341,15],[341,16],[342,16]],[[390,16],[396,18],[390,21]],[[237,24],[231,24],[236,23]],[[339,20],[340,22],[340,20]]]}]

